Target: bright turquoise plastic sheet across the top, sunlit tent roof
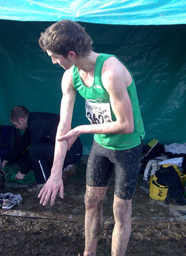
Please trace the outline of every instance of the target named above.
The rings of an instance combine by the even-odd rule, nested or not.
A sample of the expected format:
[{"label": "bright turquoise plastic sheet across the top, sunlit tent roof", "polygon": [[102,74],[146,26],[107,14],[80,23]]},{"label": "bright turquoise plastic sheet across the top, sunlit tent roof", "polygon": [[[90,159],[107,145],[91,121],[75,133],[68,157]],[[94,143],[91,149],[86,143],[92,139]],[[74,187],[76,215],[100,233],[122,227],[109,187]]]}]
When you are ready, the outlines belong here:
[{"label": "bright turquoise plastic sheet across the top, sunlit tent roof", "polygon": [[124,25],[186,23],[185,0],[1,0],[0,18],[20,21],[58,21]]}]

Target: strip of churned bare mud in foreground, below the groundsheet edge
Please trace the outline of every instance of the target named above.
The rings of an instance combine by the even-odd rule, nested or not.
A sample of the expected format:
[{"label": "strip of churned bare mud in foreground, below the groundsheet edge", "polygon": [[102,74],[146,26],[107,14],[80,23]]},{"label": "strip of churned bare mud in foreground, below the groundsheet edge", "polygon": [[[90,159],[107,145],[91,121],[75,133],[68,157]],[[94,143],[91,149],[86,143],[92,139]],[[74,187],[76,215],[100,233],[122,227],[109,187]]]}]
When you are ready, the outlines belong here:
[{"label": "strip of churned bare mud in foreground, below the groundsheet edge", "polygon": [[[105,222],[97,256],[111,256],[114,223]],[[0,255],[77,256],[84,249],[84,224],[0,216]],[[132,223],[126,256],[186,255],[185,223]]]}]

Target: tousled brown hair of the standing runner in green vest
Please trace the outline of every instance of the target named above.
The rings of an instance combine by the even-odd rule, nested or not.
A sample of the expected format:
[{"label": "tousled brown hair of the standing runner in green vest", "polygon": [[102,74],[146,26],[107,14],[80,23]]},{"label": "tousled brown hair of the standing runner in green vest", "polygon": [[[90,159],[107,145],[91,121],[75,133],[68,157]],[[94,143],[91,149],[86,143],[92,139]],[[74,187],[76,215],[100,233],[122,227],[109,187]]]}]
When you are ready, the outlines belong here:
[{"label": "tousled brown hair of the standing runner in green vest", "polygon": [[41,32],[39,45],[46,52],[52,51],[62,54],[65,58],[69,51],[74,51],[77,56],[90,54],[92,39],[84,28],[77,22],[71,20],[60,20]]}]

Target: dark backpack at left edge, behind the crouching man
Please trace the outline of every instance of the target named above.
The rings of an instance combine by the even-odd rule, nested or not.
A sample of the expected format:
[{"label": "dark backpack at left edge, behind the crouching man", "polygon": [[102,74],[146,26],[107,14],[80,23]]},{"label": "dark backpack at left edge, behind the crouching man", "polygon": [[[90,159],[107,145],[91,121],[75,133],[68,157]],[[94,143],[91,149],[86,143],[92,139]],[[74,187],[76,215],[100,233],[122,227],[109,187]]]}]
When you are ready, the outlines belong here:
[{"label": "dark backpack at left edge, behind the crouching man", "polygon": [[12,125],[0,125],[0,162],[9,155],[15,144],[20,141],[20,133]]}]

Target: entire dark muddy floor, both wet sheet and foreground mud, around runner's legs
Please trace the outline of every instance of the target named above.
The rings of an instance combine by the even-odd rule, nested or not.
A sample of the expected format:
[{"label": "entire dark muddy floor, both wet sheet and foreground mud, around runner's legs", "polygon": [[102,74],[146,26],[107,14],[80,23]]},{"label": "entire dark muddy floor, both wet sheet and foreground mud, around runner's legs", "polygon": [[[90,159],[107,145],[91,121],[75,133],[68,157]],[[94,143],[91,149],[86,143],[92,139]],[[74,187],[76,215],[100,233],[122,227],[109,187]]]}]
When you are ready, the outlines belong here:
[{"label": "entire dark muddy floor, both wet sheet and foreground mud, around runner's legs", "polygon": [[[20,192],[26,200],[15,212],[11,210],[6,214],[0,209],[1,256],[77,256],[83,253],[85,169],[81,163],[81,168],[65,186],[64,200],[57,200],[53,207],[43,209],[36,196],[26,190],[10,191]],[[139,177],[134,194],[132,234],[126,256],[185,256],[186,208],[175,211],[164,203],[151,200],[141,186],[142,179]],[[105,199],[104,216],[110,217],[112,187]],[[62,219],[65,216],[67,218]],[[69,216],[73,221],[69,221]],[[105,219],[97,256],[111,256],[113,226],[113,219]]]}]

